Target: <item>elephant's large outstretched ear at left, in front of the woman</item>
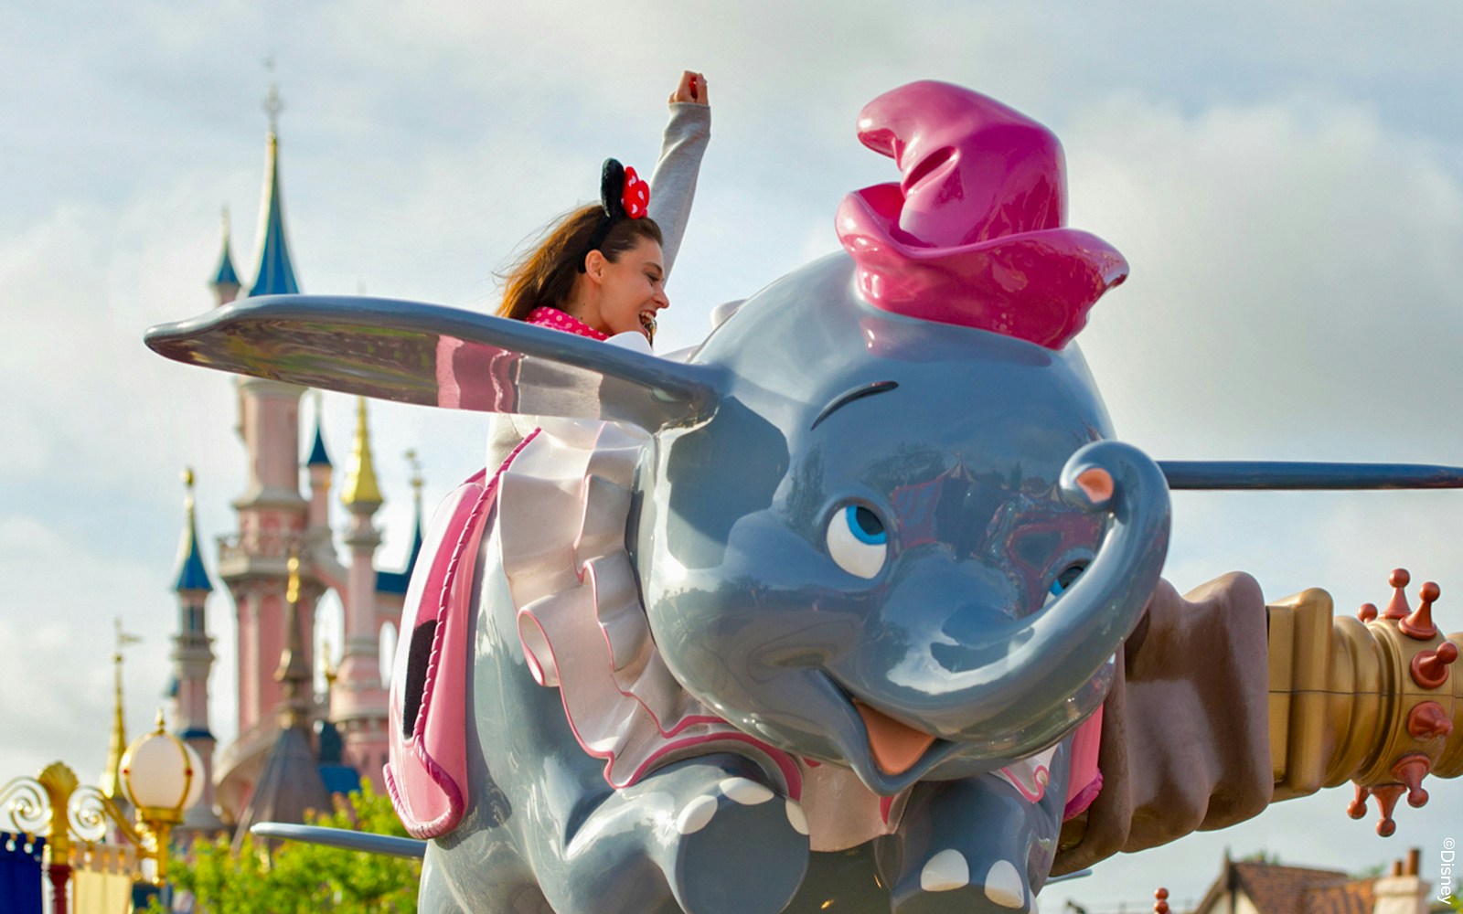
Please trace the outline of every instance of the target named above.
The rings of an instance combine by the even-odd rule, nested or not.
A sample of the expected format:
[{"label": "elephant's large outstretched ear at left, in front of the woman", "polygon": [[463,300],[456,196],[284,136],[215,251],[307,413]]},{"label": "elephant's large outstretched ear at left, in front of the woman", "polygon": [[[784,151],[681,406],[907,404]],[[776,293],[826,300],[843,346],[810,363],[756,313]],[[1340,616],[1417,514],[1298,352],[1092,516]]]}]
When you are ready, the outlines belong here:
[{"label": "elephant's large outstretched ear at left, in front of the woman", "polygon": [[272,295],[146,333],[177,361],[449,409],[625,421],[708,415],[718,374],[594,339],[432,304]]}]

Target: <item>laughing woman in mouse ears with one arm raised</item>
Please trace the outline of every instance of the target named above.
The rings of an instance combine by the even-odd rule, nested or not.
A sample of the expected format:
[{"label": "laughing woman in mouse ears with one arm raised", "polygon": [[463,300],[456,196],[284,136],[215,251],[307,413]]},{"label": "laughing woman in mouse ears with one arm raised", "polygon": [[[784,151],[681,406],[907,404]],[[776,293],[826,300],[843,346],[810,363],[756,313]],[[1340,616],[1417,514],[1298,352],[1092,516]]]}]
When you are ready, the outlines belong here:
[{"label": "laughing woman in mouse ears with one arm raised", "polygon": [[636,211],[635,202],[620,205],[622,192],[636,194],[644,184],[632,168],[619,171],[617,162],[606,162],[601,203],[571,212],[509,269],[497,313],[595,339],[633,333],[616,342],[645,348],[655,333],[655,314],[670,307],[664,284],[710,137],[707,82],[688,70],[670,95],[648,212]]}]

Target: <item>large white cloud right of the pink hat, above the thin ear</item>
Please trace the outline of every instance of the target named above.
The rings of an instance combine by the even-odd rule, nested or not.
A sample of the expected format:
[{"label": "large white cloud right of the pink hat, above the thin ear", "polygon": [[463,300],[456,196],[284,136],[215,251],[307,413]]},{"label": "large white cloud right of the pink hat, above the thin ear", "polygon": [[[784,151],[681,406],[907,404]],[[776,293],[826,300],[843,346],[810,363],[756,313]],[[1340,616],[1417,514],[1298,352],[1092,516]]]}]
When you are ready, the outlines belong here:
[{"label": "large white cloud right of the pink hat, above the thin ear", "polygon": [[1167,456],[1447,462],[1463,427],[1463,187],[1355,107],[1185,118],[1116,99],[1068,132],[1074,224],[1132,278],[1083,336],[1119,430]]}]

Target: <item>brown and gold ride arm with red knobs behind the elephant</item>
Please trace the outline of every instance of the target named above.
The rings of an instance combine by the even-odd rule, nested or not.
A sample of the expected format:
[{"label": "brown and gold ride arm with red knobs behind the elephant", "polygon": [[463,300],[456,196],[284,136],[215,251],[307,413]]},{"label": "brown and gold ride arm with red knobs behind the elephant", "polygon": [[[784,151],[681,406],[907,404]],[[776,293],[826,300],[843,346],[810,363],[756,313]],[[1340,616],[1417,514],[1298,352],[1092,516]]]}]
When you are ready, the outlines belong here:
[{"label": "brown and gold ride arm with red knobs behind the elephant", "polygon": [[1425,775],[1463,774],[1463,633],[1432,623],[1437,585],[1413,611],[1407,573],[1391,581],[1388,607],[1359,619],[1333,617],[1321,589],[1264,605],[1245,575],[1184,597],[1160,583],[1103,703],[1102,791],[1064,823],[1053,875],[1349,779],[1349,815],[1377,797],[1385,836],[1402,796],[1426,803]]}]

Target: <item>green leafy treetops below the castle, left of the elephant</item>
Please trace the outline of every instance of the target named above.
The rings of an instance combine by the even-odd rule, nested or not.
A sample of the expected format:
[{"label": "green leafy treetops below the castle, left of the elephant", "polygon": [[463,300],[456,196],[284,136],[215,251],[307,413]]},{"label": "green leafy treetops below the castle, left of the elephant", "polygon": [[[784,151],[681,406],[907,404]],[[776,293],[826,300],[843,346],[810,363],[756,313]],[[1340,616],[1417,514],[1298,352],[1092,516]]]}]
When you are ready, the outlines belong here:
[{"label": "green leafy treetops below the castle, left of the elephant", "polygon": [[[405,836],[391,800],[363,784],[336,798],[312,825]],[[209,914],[414,914],[421,861],[285,841],[272,853],[246,836],[237,856],[228,839],[196,842],[176,854],[170,882]]]}]

